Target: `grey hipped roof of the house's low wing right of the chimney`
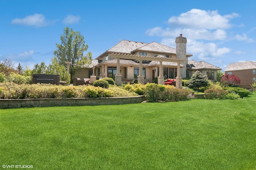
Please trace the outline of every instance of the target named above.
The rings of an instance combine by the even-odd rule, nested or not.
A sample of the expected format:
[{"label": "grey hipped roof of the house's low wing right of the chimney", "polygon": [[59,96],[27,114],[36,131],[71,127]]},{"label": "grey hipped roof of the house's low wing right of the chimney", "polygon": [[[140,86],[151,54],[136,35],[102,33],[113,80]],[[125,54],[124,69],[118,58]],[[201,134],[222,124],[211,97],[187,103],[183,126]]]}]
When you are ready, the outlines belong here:
[{"label": "grey hipped roof of the house's low wing right of the chimney", "polygon": [[197,62],[194,60],[189,60],[187,67],[192,70],[203,70],[203,69],[222,70],[221,68],[214,66],[212,64],[209,64],[205,61]]}]

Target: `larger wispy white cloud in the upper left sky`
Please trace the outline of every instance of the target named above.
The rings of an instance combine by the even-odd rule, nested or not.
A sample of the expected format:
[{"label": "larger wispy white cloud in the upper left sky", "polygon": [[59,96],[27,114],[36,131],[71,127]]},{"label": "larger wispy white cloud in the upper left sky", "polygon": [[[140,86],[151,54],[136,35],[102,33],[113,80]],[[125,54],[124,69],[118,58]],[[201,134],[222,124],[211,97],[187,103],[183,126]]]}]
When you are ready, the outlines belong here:
[{"label": "larger wispy white cloud in the upper left sky", "polygon": [[46,21],[43,14],[34,14],[31,16],[26,16],[25,18],[16,18],[11,21],[12,24],[21,24],[21,25],[29,25],[35,27],[44,27],[49,24]]}]

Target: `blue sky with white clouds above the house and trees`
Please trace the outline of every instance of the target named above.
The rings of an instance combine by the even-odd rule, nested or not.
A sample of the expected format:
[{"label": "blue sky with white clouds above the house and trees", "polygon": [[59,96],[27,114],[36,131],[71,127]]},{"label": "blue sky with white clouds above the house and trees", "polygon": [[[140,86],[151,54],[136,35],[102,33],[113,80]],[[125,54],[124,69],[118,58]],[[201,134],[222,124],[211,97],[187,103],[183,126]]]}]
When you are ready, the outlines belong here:
[{"label": "blue sky with white clouds above the house and trees", "polygon": [[256,61],[255,7],[251,0],[0,0],[0,61],[48,65],[68,26],[84,36],[93,59],[122,39],[176,48],[183,34],[189,60],[224,71]]}]

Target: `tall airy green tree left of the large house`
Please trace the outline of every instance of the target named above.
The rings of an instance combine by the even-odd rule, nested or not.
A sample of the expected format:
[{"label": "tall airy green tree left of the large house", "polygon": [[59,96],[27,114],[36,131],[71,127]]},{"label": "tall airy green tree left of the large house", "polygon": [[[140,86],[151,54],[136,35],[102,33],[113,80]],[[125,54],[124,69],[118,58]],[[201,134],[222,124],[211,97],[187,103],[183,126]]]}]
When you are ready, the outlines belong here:
[{"label": "tall airy green tree left of the large house", "polygon": [[87,51],[88,45],[85,44],[84,36],[79,31],[74,31],[68,26],[64,28],[64,33],[60,36],[61,43],[56,43],[57,49],[54,51],[54,56],[60,65],[67,67],[66,61],[72,62],[70,66],[70,78],[78,71],[92,62],[92,53],[89,52],[84,56],[84,51]]}]

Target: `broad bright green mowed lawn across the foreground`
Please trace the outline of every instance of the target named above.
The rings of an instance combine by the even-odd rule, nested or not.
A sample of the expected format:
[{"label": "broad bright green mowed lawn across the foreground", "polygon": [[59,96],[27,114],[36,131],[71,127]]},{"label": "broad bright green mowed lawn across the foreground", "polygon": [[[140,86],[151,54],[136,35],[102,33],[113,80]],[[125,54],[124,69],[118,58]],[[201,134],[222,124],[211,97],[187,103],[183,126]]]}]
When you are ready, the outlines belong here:
[{"label": "broad bright green mowed lawn across the foreground", "polygon": [[256,169],[256,95],[0,109],[0,164],[36,170]]}]

